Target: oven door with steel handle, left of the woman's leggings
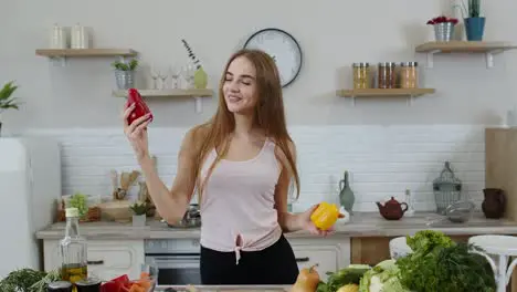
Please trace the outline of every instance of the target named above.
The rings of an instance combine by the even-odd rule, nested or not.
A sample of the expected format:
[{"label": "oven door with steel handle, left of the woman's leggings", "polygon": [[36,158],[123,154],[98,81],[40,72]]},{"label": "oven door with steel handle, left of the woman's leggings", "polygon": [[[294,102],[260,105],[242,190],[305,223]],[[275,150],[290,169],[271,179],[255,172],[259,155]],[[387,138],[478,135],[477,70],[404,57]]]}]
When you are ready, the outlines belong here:
[{"label": "oven door with steel handle, left of the woman's leggings", "polygon": [[146,254],[146,262],[158,268],[157,286],[200,285],[199,253]]}]

